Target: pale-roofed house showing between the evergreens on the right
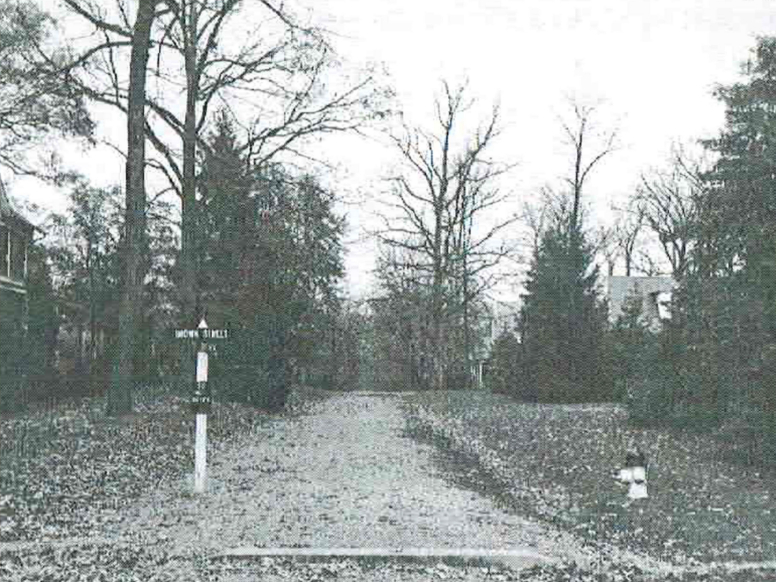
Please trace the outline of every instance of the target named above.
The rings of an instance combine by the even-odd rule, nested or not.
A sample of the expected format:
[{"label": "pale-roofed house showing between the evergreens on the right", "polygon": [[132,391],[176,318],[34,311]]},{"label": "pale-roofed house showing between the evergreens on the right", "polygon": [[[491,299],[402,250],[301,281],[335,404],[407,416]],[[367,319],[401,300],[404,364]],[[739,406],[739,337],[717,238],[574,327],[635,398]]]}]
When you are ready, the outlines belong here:
[{"label": "pale-roofed house showing between the evergreens on the right", "polygon": [[671,298],[676,283],[671,277],[618,277],[606,280],[606,297],[609,301],[609,323],[614,324],[623,314],[629,298],[641,301],[642,320],[653,331],[662,326],[668,316],[666,303]]}]

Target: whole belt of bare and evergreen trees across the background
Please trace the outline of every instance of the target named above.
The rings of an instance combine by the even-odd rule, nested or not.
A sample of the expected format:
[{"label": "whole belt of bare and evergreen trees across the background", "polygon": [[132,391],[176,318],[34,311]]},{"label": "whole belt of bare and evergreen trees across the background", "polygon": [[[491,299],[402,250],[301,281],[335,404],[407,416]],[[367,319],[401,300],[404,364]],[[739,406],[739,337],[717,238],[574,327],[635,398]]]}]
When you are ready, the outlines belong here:
[{"label": "whole belt of bare and evergreen trees across the background", "polygon": [[[42,213],[0,205],[0,266],[17,291],[0,305],[0,407],[104,394],[118,415],[146,383],[186,387],[193,348],[171,330],[204,317],[234,337],[214,363],[218,393],[267,408],[294,383],[484,385],[535,402],[625,402],[648,424],[776,436],[776,39],[759,39],[742,80],[716,89],[719,135],[638,176],[602,228],[590,177],[619,143],[597,107],[569,103],[558,185],[515,216],[504,209],[527,198],[507,188],[520,168],[497,158],[503,114],[480,115],[475,86],[441,82],[431,126],[412,123],[393,116],[373,71],[345,75],[327,31],[293,7],[257,3],[262,33],[228,41],[244,32],[242,4],[65,0],[88,31],[66,38],[35,4],[0,3],[0,165],[69,197],[30,242],[13,242],[14,220]],[[95,104],[127,124],[125,181],[109,188],[29,155],[54,137],[88,147]],[[393,129],[378,127],[389,118]],[[377,284],[354,300],[342,286],[347,217],[307,148],[367,128],[396,164],[372,233]],[[489,292],[517,277],[505,261],[521,258],[526,233],[519,313],[494,332]],[[618,265],[675,282],[659,328],[635,297],[611,320],[602,270]]]}]

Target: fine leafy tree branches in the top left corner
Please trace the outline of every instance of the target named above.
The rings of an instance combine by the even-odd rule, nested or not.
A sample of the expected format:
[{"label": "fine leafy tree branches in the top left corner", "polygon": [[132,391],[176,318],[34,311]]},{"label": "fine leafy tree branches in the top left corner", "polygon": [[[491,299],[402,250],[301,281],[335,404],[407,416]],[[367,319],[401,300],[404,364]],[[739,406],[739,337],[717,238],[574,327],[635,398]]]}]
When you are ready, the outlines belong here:
[{"label": "fine leafy tree branches in the top left corner", "polygon": [[32,2],[0,1],[0,164],[19,174],[51,175],[55,168],[29,152],[52,133],[89,139],[94,129],[82,93],[60,74],[65,54],[54,45],[54,24]]}]

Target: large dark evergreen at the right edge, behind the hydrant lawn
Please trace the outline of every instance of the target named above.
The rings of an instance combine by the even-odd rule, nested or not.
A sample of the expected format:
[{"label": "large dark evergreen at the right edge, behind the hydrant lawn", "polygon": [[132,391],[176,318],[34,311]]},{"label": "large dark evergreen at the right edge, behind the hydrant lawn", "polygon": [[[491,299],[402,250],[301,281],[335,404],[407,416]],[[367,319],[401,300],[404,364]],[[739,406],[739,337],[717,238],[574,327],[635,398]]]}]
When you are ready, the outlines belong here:
[{"label": "large dark evergreen at the right edge, behind the hydrant lawn", "polygon": [[704,142],[716,156],[711,169],[676,156],[658,183],[669,187],[657,190],[673,211],[661,216],[675,219],[664,221],[663,238],[689,241],[676,253],[681,284],[664,334],[670,351],[663,360],[673,368],[664,375],[672,386],[668,412],[709,427],[731,409],[748,410],[746,422],[761,422],[755,427],[765,442],[776,432],[775,71],[776,39],[760,38],[743,78],[715,92],[726,122]]}]

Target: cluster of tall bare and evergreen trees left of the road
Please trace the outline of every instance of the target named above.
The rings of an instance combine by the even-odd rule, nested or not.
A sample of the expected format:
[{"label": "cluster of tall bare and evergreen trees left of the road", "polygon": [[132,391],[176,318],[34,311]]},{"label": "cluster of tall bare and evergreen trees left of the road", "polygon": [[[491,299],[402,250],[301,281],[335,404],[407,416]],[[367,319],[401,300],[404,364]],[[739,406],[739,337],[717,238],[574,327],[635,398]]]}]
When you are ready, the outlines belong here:
[{"label": "cluster of tall bare and evergreen trees left of the road", "polygon": [[[54,319],[87,312],[90,345],[78,351],[110,414],[131,411],[133,392],[166,367],[193,377],[193,353],[176,359],[164,339],[202,317],[237,338],[222,358],[246,368],[243,386],[224,388],[235,397],[281,406],[294,375],[331,377],[322,337],[341,302],[344,222],[335,194],[299,161],[315,136],[384,115],[390,91],[369,70],[339,75],[325,31],[282,3],[250,14],[243,4],[64,0],[58,16],[78,29],[69,38],[32,2],[6,0],[0,11],[0,77],[14,97],[4,165],[70,190],[68,211],[49,217],[36,246],[50,289],[41,305]],[[44,164],[29,155],[52,134],[92,145],[95,105],[126,120],[117,188],[90,186],[55,155]],[[150,172],[167,186],[149,192]],[[36,305],[31,297],[33,315]],[[51,370],[56,341],[44,344]]]}]

